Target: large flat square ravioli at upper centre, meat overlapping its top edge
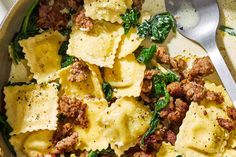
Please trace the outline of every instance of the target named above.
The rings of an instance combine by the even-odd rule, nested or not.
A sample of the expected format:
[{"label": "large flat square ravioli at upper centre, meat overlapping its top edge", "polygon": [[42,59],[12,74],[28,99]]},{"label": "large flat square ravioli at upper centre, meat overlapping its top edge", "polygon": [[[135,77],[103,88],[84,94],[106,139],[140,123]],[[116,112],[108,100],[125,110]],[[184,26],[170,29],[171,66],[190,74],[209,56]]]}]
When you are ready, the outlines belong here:
[{"label": "large flat square ravioli at upper centre, meat overlapping its top edge", "polygon": [[90,64],[112,67],[124,30],[121,25],[94,21],[94,29],[84,32],[72,28],[67,54]]}]

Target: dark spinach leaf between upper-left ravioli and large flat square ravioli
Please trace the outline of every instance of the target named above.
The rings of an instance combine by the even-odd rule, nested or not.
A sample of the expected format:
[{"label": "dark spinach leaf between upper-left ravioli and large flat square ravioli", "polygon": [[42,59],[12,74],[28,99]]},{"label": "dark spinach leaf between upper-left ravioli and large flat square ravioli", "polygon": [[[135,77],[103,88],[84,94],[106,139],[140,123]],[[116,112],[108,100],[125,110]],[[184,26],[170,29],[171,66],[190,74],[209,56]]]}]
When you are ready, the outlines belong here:
[{"label": "dark spinach leaf between upper-left ravioli and large flat square ravioli", "polygon": [[62,44],[61,44],[61,47],[59,49],[59,55],[62,56],[62,59],[61,59],[61,68],[65,68],[71,64],[74,63],[74,60],[75,60],[75,57],[73,56],[69,56],[66,54],[66,51],[68,49],[68,45],[69,45],[69,41],[64,41]]}]

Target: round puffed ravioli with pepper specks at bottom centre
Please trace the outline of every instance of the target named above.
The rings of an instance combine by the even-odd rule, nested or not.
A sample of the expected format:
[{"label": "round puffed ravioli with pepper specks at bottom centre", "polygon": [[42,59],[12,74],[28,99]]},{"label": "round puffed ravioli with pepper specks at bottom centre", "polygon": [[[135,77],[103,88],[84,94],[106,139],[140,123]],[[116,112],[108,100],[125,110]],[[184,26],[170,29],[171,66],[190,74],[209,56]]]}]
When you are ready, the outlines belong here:
[{"label": "round puffed ravioli with pepper specks at bottom centre", "polygon": [[99,124],[104,128],[103,137],[120,156],[135,146],[148,129],[150,119],[151,112],[143,103],[133,97],[125,97],[101,112]]}]

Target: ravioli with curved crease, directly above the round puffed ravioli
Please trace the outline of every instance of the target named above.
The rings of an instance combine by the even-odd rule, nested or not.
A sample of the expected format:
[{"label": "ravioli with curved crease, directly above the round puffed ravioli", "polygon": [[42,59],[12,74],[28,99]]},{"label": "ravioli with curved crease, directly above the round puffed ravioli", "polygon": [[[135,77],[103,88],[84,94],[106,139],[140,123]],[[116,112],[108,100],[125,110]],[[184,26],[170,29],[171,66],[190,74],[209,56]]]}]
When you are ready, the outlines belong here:
[{"label": "ravioli with curved crease, directly above the round puffed ravioli", "polygon": [[104,79],[114,87],[114,97],[134,96],[141,92],[145,65],[140,64],[133,54],[116,59],[114,67],[104,69]]}]

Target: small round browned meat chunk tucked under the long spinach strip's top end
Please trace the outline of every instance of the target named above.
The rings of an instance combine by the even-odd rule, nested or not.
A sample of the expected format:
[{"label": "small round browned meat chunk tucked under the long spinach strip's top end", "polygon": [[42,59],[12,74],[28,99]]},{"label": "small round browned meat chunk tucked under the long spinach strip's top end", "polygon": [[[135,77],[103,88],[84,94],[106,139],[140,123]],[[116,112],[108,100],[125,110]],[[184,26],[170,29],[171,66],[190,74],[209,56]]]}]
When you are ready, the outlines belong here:
[{"label": "small round browned meat chunk tucked under the long spinach strip's top end", "polygon": [[172,82],[167,85],[167,91],[173,97],[182,97],[184,95],[183,88],[180,82]]}]

